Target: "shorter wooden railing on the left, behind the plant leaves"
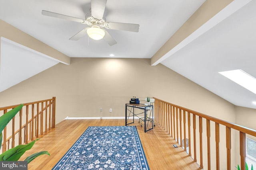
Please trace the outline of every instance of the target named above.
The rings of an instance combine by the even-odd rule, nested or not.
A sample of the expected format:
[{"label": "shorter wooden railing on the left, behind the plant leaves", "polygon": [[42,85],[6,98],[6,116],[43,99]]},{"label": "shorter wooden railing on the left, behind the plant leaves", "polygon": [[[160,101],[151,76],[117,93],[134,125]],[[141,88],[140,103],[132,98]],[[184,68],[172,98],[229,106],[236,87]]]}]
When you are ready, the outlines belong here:
[{"label": "shorter wooden railing on the left, behind the plant leaves", "polygon": [[[55,104],[56,97],[23,104],[19,113],[3,130],[2,152],[17,145],[27,144],[55,128]],[[17,106],[19,105],[0,107],[0,116],[1,111],[5,114]],[[7,135],[10,137],[7,138]]]}]

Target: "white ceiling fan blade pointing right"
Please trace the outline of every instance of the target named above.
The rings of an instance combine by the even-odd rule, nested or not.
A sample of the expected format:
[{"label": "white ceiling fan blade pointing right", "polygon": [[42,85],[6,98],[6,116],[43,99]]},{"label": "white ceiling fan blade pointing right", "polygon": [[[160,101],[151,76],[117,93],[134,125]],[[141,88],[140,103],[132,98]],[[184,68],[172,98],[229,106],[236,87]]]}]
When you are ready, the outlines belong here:
[{"label": "white ceiling fan blade pointing right", "polygon": [[109,22],[108,23],[108,29],[139,32],[139,27],[140,27],[140,25],[135,24],[135,23],[119,23],[119,22]]}]

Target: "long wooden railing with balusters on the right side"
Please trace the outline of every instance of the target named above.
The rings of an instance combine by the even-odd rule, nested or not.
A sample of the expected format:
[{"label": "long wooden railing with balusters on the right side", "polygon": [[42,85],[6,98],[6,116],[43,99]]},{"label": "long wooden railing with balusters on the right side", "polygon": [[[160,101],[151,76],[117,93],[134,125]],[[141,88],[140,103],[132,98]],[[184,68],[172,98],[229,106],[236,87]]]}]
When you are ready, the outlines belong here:
[{"label": "long wooden railing with balusters on the right side", "polygon": [[[215,123],[215,145],[216,145],[216,170],[220,170],[220,125],[226,127],[226,169],[231,170],[231,129],[239,131],[240,134],[240,163],[241,170],[245,170],[245,157],[246,157],[246,134],[256,137],[256,131],[228,121],[224,121],[209,115],[199,113],[169,102],[165,102],[158,98],[155,99],[154,106],[154,119],[159,125],[172,137],[180,147],[182,147],[182,138],[184,137],[184,150],[187,152],[186,137],[188,137],[188,155],[193,157],[194,162],[198,162],[196,148],[199,146],[199,162],[200,168],[203,166],[203,143],[207,145],[207,168],[211,169],[211,149],[210,149],[210,123]],[[182,114],[183,113],[183,114]],[[192,116],[192,123],[191,123]],[[198,117],[198,122],[196,118]],[[203,142],[203,119],[206,120],[206,138]],[[182,126],[183,121],[183,126]],[[199,127],[196,127],[199,125]],[[192,126],[192,127],[191,127]],[[193,139],[191,139],[191,128]],[[186,134],[188,129],[188,134]],[[199,130],[199,144],[196,143],[196,130]],[[191,146],[191,140],[193,140],[193,147]],[[192,156],[191,149],[193,149],[194,155]],[[204,151],[205,152],[205,151]],[[236,164],[237,165],[237,164]],[[234,169],[234,167],[232,168]]]}]

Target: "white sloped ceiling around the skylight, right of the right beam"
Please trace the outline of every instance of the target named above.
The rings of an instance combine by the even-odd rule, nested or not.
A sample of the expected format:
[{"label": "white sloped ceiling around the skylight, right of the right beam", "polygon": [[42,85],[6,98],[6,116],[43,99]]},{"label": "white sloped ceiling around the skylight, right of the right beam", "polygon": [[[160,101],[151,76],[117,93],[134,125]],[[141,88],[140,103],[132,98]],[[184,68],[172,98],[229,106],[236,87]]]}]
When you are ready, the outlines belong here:
[{"label": "white sloped ceiling around the skylight, right of the right beam", "polygon": [[242,69],[256,77],[256,0],[161,63],[236,106],[256,109],[256,94],[218,72]]}]

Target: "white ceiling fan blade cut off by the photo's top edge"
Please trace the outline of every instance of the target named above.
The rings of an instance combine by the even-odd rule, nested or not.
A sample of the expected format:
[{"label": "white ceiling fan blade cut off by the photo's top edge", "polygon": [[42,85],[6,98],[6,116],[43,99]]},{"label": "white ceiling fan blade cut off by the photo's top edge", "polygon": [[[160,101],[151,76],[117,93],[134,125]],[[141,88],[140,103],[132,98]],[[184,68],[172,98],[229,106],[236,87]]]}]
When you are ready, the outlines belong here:
[{"label": "white ceiling fan blade cut off by the photo's top edge", "polygon": [[107,0],[91,0],[92,16],[101,20],[106,8]]}]

